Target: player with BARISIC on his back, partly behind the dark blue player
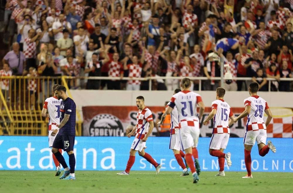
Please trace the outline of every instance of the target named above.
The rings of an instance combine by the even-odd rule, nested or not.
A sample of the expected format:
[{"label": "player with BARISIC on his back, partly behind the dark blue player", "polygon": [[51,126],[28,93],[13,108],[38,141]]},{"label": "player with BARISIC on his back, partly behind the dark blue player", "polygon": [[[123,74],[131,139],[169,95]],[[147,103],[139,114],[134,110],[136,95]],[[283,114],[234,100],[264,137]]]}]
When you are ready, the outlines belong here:
[{"label": "player with BARISIC on his back, partly behind the dark blue player", "polygon": [[[59,86],[59,84],[54,84],[53,86],[53,96],[49,97],[45,100],[44,106],[42,109],[42,117],[49,118],[49,125],[48,125],[48,136],[49,136],[49,148],[52,148],[55,136],[51,136],[51,133],[58,127],[60,124],[60,103],[62,99],[58,100],[55,95],[55,90]],[[59,152],[62,153],[62,150],[59,149]],[[59,161],[55,157],[54,154],[52,154],[54,164],[56,166],[56,174],[55,176],[59,176],[61,174],[61,168]]]}]

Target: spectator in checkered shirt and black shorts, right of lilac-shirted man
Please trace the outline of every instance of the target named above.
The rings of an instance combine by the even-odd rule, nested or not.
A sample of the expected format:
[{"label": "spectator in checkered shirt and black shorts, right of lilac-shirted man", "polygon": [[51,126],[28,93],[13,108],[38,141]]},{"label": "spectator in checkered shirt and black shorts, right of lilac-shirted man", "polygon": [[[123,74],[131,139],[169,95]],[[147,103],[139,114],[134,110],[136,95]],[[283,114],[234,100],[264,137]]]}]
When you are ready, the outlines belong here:
[{"label": "spectator in checkered shirt and black shorts, right of lilac-shirted man", "polygon": [[35,33],[34,29],[30,29],[28,31],[28,38],[24,40],[23,50],[26,60],[26,67],[23,72],[24,75],[28,74],[28,69],[30,67],[37,68],[36,65],[36,42],[38,42],[38,38],[40,37],[41,33]]}]

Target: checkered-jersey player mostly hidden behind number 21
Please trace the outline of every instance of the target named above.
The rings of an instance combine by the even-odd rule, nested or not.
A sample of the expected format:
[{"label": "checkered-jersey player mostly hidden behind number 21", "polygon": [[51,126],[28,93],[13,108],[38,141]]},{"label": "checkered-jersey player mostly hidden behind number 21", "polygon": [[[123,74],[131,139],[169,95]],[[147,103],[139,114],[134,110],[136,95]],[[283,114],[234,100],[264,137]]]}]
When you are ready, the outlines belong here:
[{"label": "checkered-jersey player mostly hidden behind number 21", "polygon": [[[174,94],[180,92],[180,89],[175,89]],[[170,105],[171,102],[169,102],[166,106],[167,107]],[[165,110],[166,111],[166,110]],[[183,163],[182,158],[185,157],[185,154],[181,150],[181,142],[180,142],[180,135],[179,135],[179,123],[178,123],[178,110],[177,107],[175,106],[174,109],[171,111],[171,125],[170,125],[170,144],[169,144],[169,149],[173,150],[174,156],[178,162],[178,164],[182,167],[183,173],[181,176],[188,176],[188,165]],[[166,113],[164,113],[161,117],[161,121],[157,123],[157,125],[161,125],[166,118]],[[182,157],[182,158],[181,158]]]}]

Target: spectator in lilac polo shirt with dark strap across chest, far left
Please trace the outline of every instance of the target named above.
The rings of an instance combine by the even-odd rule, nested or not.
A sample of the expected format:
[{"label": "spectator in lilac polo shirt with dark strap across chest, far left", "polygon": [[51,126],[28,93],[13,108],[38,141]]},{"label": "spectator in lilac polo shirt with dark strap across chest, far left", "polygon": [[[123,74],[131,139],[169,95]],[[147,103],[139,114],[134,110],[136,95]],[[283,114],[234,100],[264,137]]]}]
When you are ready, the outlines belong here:
[{"label": "spectator in lilac polo shirt with dark strap across chest, far left", "polygon": [[23,75],[25,55],[19,51],[19,44],[17,42],[12,44],[12,50],[4,56],[2,64],[5,63],[9,65],[13,75]]}]

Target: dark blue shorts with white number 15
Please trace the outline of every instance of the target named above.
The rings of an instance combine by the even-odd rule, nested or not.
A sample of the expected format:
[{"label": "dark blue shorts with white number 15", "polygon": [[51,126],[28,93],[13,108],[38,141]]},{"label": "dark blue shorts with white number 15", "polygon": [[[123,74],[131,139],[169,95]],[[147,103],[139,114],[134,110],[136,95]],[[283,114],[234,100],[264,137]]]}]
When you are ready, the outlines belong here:
[{"label": "dark blue shorts with white number 15", "polygon": [[64,151],[73,151],[75,136],[71,135],[59,135],[55,137],[52,147],[57,149],[63,149]]}]

